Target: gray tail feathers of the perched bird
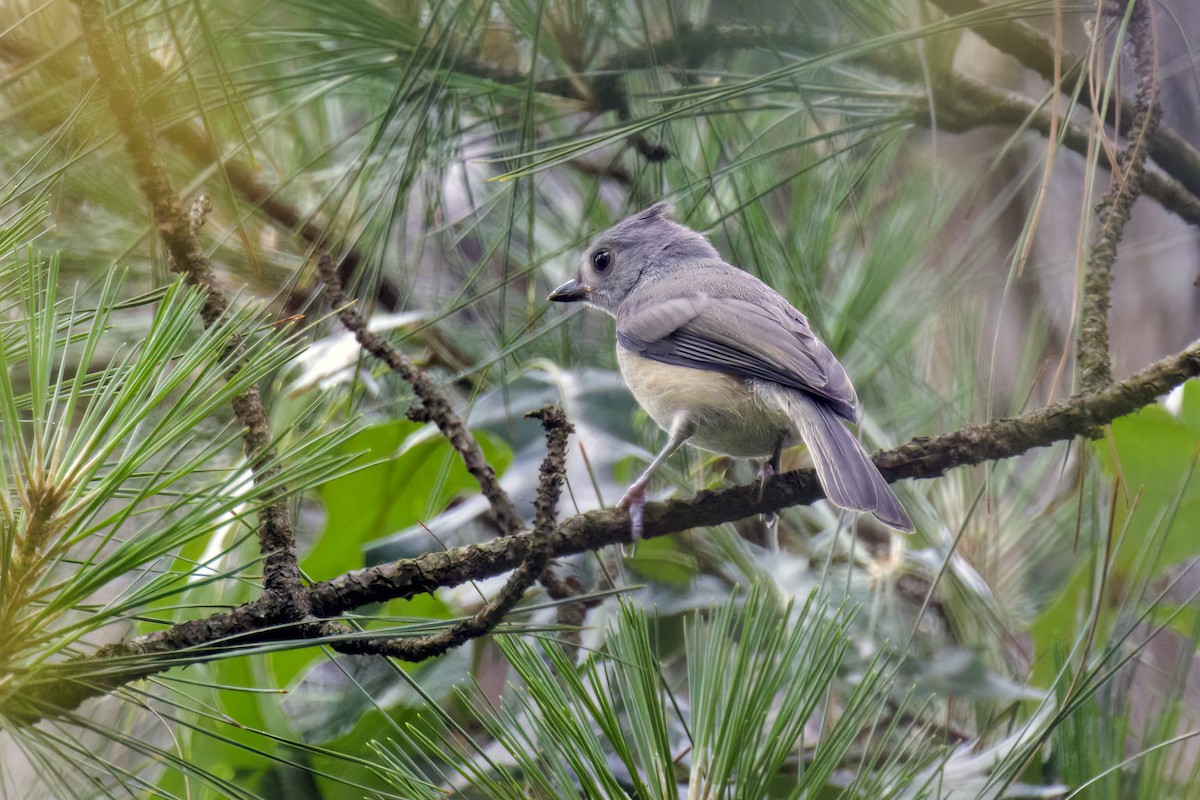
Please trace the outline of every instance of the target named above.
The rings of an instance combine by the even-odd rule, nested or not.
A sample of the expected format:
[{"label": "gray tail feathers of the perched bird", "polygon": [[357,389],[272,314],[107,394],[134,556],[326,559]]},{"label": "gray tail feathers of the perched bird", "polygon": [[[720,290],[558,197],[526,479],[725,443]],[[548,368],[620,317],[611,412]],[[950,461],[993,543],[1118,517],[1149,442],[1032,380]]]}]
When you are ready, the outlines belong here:
[{"label": "gray tail feathers of the perched bird", "polygon": [[886,525],[912,530],[912,522],[892,487],[836,414],[796,390],[770,386],[768,391],[796,422],[817,468],[821,487],[834,505],[870,511]]}]

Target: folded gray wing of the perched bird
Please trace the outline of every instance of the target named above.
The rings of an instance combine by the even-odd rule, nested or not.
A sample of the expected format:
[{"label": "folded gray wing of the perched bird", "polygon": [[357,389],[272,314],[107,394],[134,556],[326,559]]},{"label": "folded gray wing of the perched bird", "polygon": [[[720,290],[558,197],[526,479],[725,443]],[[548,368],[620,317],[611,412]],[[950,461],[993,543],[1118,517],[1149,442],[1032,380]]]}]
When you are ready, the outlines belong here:
[{"label": "folded gray wing of the perched bird", "polygon": [[858,398],[838,359],[800,312],[773,291],[762,300],[696,291],[666,301],[626,302],[617,313],[617,341],[655,361],[799,390],[856,421]]}]

